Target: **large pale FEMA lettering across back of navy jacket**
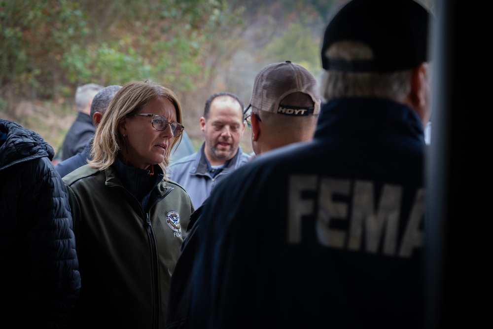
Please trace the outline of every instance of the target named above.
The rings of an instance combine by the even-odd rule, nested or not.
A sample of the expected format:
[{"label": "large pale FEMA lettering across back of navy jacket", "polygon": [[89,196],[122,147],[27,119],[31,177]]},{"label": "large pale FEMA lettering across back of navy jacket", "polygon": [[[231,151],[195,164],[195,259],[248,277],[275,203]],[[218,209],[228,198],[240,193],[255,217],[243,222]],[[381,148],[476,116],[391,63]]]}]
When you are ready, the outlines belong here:
[{"label": "large pale FEMA lettering across back of navy jacket", "polygon": [[[302,197],[306,191],[315,192],[316,198]],[[369,181],[315,175],[290,177],[287,242],[300,244],[304,227],[302,218],[314,216],[318,242],[327,248],[354,252],[363,249],[367,253],[381,252],[385,256],[412,256],[415,248],[423,247],[424,237],[420,225],[424,218],[424,189],[416,190],[400,241],[398,232],[402,186],[385,184],[378,203],[375,203],[374,191],[374,183]],[[334,195],[350,197],[351,209],[349,202],[337,201]],[[378,205],[377,209],[374,209],[375,204]],[[340,220],[349,220],[347,230],[330,225],[331,221]],[[379,246],[382,246],[381,250]]]}]

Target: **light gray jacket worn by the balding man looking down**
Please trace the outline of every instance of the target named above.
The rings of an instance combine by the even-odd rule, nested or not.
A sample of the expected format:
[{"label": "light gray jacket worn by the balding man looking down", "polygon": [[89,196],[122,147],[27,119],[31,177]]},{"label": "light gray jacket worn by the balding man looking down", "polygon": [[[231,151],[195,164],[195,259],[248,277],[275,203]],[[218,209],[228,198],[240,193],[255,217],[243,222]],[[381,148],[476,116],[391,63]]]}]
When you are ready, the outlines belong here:
[{"label": "light gray jacket worn by the balding man looking down", "polygon": [[198,152],[172,163],[169,171],[170,179],[185,188],[195,208],[199,208],[202,205],[211,194],[211,190],[216,183],[227,177],[230,172],[243,166],[250,158],[250,155],[244,153],[242,148],[238,146],[238,152],[236,152],[236,155],[226,168],[214,176],[214,169],[210,171],[207,165],[204,146],[205,143],[202,144]]}]

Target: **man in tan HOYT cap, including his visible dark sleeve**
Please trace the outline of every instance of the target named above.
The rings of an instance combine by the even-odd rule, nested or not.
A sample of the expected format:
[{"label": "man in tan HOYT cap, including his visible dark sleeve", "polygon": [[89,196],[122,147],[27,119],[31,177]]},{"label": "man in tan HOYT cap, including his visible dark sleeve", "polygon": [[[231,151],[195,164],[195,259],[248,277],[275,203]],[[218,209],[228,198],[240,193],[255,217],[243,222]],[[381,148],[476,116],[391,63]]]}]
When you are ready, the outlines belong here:
[{"label": "man in tan HOYT cap, including his visible dark sleeve", "polygon": [[[255,156],[274,148],[312,140],[320,112],[317,80],[304,67],[290,61],[264,67],[255,77],[250,104],[244,117],[251,128]],[[217,184],[217,182],[216,182]],[[206,200],[207,202],[207,200]],[[200,235],[200,208],[190,216],[188,235],[173,272],[167,315],[167,328],[186,328],[193,273],[193,259]]]}]

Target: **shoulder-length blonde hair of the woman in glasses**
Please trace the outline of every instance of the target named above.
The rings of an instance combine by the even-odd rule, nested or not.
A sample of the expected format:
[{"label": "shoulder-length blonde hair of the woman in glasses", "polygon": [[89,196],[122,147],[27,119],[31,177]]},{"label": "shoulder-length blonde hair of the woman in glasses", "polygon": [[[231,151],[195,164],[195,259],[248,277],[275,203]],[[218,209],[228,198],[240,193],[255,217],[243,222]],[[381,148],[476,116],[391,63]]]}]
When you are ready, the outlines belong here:
[{"label": "shoulder-length blonde hair of the woman in glasses", "polygon": [[[137,113],[150,100],[159,97],[168,99],[175,106],[176,122],[183,124],[180,102],[171,89],[151,80],[129,82],[115,94],[96,129],[91,146],[93,159],[88,161],[92,168],[105,170],[115,162],[117,156],[123,163],[127,163],[128,139],[120,134],[119,123],[127,115]],[[159,164],[165,177],[167,177],[166,168],[170,164],[170,152],[176,144],[181,142],[181,138],[182,135],[174,139],[166,150],[164,161]]]}]

